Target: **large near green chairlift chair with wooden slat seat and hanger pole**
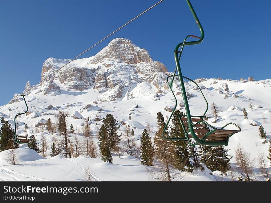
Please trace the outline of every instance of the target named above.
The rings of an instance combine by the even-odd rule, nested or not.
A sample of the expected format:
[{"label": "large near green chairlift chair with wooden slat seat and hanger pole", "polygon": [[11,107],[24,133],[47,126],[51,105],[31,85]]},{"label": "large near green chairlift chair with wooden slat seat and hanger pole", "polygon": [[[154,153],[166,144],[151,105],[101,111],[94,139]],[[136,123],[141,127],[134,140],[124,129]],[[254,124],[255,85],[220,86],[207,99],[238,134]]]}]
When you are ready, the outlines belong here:
[{"label": "large near green chairlift chair with wooden slat seat and hanger pole", "polygon": [[[191,79],[189,79],[187,77],[184,77],[182,75],[182,72],[181,72],[180,58],[181,58],[184,46],[186,46],[186,45],[200,44],[203,41],[203,39],[204,39],[204,31],[203,31],[203,28],[202,28],[202,26],[200,24],[200,21],[199,21],[197,15],[196,15],[196,13],[195,13],[195,10],[193,9],[193,7],[192,7],[192,5],[191,5],[191,3],[190,3],[189,0],[186,0],[186,2],[187,2],[188,6],[189,6],[189,8],[190,8],[190,10],[192,12],[192,15],[194,16],[194,19],[196,20],[196,23],[197,23],[198,27],[200,28],[200,37],[195,36],[195,35],[188,35],[187,37],[185,37],[185,39],[184,39],[183,42],[179,43],[176,46],[176,48],[174,50],[174,58],[175,58],[175,62],[176,62],[176,68],[175,68],[174,74],[167,77],[167,83],[168,83],[168,85],[170,87],[170,90],[172,92],[173,97],[175,98],[175,107],[174,107],[174,110],[172,111],[172,114],[170,115],[170,117],[168,119],[168,122],[166,123],[166,125],[164,127],[163,138],[164,139],[168,139],[168,140],[187,140],[188,143],[190,145],[193,145],[193,146],[197,145],[197,144],[199,144],[199,145],[212,145],[212,146],[218,146],[218,145],[225,145],[225,146],[227,146],[228,142],[229,142],[229,137],[231,137],[235,133],[240,132],[241,128],[239,126],[237,126],[235,123],[230,122],[230,123],[227,123],[222,128],[218,129],[218,128],[214,127],[214,126],[211,126],[210,124],[208,124],[204,120],[202,120],[202,119],[206,118],[205,114],[206,114],[206,112],[208,110],[208,102],[207,102],[206,98],[204,97],[204,95],[203,95],[203,93],[202,93],[199,85],[195,81],[193,81],[193,80],[191,80]],[[198,40],[196,40],[196,41],[188,41],[187,42],[186,40],[189,37],[193,37],[193,38],[196,38]],[[180,48],[181,48],[181,50],[179,51]],[[176,72],[178,72],[178,75],[176,74]],[[174,81],[175,77],[178,77],[179,81],[180,81],[180,86],[181,86],[181,90],[182,90],[182,95],[183,95],[184,107],[185,107],[186,115],[185,114],[175,114],[174,113],[175,110],[176,110],[176,108],[177,108],[177,99],[176,99],[176,96],[175,96],[175,94],[174,94],[174,92],[172,90],[172,84],[173,84],[173,81]],[[169,81],[170,78],[172,78],[171,81]],[[188,100],[187,100],[187,96],[186,96],[186,93],[185,93],[186,91],[185,91],[185,87],[184,87],[184,79],[183,78],[185,78],[185,79],[193,82],[198,87],[198,89],[200,90],[200,93],[203,96],[203,98],[204,98],[204,100],[206,102],[206,105],[207,105],[207,108],[206,108],[206,110],[205,110],[205,112],[204,112],[204,114],[202,116],[193,116],[193,115],[190,114]],[[182,125],[183,130],[184,130],[185,138],[172,138],[172,137],[166,137],[165,136],[165,132],[167,131],[168,124],[169,124],[172,116],[178,116],[179,117],[181,125]],[[187,127],[188,128],[185,128],[185,126],[184,126],[184,118],[185,118],[185,120],[187,120]],[[200,118],[200,119],[194,119],[194,122],[195,122],[195,120],[196,121],[199,120],[199,121],[196,122],[196,123],[193,123],[193,118]],[[202,127],[205,126],[205,129],[207,129],[207,126],[211,127],[212,130],[210,130],[202,138],[199,138],[199,136],[196,135],[195,129],[194,129],[194,127],[196,127],[198,124],[202,124]],[[230,124],[236,126],[238,128],[238,130],[225,130],[224,128],[226,126],[230,125]],[[195,141],[194,143],[191,142],[191,140],[190,140],[190,138],[188,136],[188,133],[191,134],[189,136],[194,139],[194,141]],[[223,136],[225,134],[228,134],[228,135]],[[223,141],[222,141],[222,139],[221,139],[220,136],[223,136]],[[211,138],[212,138],[212,140],[211,140]]]}]

